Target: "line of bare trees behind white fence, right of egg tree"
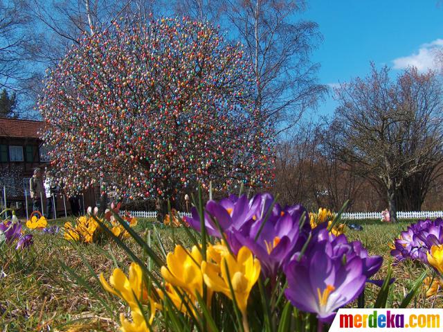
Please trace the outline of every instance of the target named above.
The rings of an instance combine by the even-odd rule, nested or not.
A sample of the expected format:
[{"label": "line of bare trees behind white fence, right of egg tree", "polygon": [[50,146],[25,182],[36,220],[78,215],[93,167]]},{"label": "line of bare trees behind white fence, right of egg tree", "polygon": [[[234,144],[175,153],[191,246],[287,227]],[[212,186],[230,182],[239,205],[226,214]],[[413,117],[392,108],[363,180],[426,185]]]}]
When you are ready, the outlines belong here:
[{"label": "line of bare trees behind white fence, right of egg tree", "polygon": [[410,68],[392,79],[372,65],[334,93],[332,120],[300,124],[279,144],[275,191],[311,206],[420,211],[442,182],[440,76]]}]

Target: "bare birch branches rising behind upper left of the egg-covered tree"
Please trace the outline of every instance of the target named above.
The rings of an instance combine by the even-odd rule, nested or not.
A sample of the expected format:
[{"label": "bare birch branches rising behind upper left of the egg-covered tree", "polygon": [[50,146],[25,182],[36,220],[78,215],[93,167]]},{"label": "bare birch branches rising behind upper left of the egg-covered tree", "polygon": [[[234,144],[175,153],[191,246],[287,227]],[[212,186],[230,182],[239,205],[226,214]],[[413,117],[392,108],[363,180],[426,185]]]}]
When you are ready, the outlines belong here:
[{"label": "bare birch branches rising behind upper left of the egg-covered tree", "polygon": [[59,61],[80,35],[103,30],[120,16],[148,19],[160,0],[27,0],[26,12],[33,18],[33,53],[51,66]]}]

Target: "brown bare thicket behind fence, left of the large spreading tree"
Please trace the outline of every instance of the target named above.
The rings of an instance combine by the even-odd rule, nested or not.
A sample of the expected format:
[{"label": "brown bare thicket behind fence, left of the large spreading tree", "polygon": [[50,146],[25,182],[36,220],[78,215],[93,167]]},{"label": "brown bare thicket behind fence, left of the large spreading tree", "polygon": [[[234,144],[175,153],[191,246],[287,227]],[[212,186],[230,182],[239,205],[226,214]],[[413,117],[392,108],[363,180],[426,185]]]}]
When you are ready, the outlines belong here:
[{"label": "brown bare thicket behind fence, left of the large spreading tree", "polygon": [[287,136],[275,149],[274,191],[282,202],[302,202],[312,209],[327,207],[338,211],[346,200],[350,200],[348,210],[363,201],[361,189],[365,181],[354,172],[355,165],[335,159],[328,150],[324,142],[334,136],[327,131],[323,119],[298,123]]}]

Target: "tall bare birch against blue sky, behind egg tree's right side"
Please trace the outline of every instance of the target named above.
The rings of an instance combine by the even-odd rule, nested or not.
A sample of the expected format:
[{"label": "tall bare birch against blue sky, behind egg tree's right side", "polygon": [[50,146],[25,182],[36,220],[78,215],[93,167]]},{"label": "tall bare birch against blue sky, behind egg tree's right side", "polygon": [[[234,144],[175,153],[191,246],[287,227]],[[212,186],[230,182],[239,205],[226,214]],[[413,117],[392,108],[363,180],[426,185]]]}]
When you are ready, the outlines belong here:
[{"label": "tall bare birch against blue sky, behind egg tree's right side", "polygon": [[310,61],[321,41],[318,24],[300,19],[305,1],[228,0],[176,1],[177,8],[199,19],[226,26],[241,40],[254,64],[256,105],[275,134],[295,125],[305,110],[315,107],[326,88],[319,85],[319,64]]}]

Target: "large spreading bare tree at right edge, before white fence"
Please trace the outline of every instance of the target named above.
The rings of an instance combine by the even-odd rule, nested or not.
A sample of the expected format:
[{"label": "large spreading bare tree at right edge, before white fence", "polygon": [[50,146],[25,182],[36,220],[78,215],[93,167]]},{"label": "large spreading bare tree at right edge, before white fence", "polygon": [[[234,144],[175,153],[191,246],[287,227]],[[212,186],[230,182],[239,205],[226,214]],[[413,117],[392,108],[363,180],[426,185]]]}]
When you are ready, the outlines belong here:
[{"label": "large spreading bare tree at right edge, before white fence", "polygon": [[395,220],[399,190],[411,177],[429,183],[426,170],[432,173],[443,160],[440,82],[432,71],[415,68],[392,82],[387,67],[377,71],[372,64],[368,77],[341,85],[336,94],[334,155],[384,189]]}]

